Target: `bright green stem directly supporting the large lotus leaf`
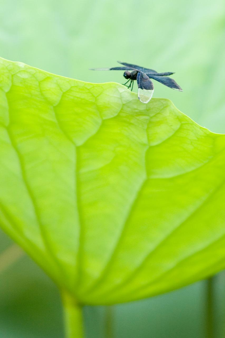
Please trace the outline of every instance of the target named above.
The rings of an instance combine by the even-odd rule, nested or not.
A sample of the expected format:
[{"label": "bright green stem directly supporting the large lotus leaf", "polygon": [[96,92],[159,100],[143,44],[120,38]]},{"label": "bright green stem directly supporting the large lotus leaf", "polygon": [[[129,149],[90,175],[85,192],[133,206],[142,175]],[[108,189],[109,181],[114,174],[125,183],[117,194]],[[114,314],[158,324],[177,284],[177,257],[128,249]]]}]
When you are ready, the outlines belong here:
[{"label": "bright green stem directly supporting the large lotus leaf", "polygon": [[82,306],[67,291],[61,293],[66,338],[84,338]]}]

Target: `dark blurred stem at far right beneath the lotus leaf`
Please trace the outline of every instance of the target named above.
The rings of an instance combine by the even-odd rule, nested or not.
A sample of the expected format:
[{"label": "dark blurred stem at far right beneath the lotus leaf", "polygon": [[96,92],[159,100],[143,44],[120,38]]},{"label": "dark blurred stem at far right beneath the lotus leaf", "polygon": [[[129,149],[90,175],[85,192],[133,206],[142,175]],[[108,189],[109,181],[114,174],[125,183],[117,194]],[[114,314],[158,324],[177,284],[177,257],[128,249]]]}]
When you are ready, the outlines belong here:
[{"label": "dark blurred stem at far right beneath the lotus leaf", "polygon": [[206,338],[214,338],[214,280],[206,280]]}]

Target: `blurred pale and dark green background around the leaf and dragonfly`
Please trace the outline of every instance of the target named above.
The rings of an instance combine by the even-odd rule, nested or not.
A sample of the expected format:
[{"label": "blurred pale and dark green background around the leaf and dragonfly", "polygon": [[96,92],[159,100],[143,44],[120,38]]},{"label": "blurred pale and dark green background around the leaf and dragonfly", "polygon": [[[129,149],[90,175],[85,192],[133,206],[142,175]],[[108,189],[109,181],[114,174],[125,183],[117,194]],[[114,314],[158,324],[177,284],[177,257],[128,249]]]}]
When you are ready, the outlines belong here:
[{"label": "blurred pale and dark green background around the leaf and dragonfly", "polygon": [[[0,0],[0,56],[90,82],[123,83],[94,72],[117,60],[174,71],[183,92],[154,82],[154,97],[225,133],[225,2],[215,0]],[[136,91],[136,87],[134,89]],[[63,337],[53,282],[0,232],[0,338]],[[11,247],[12,246],[12,247]],[[8,250],[8,251],[7,251]],[[214,277],[215,338],[225,335],[225,273]],[[87,338],[206,337],[207,281],[113,309],[85,307]]]}]

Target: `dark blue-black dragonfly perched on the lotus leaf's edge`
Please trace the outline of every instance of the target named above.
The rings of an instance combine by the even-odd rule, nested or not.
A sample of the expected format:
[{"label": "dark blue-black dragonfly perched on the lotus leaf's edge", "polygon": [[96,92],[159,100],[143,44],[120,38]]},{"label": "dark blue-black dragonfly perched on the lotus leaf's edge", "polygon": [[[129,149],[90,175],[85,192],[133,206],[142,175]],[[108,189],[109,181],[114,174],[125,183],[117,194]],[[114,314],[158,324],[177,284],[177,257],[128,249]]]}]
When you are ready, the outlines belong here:
[{"label": "dark blue-black dragonfly perched on the lotus leaf's edge", "polygon": [[175,82],[174,79],[168,77],[174,74],[174,72],[158,73],[153,69],[144,68],[138,65],[128,64],[126,62],[117,61],[122,67],[111,67],[111,68],[90,68],[91,70],[124,70],[123,76],[128,79],[127,82],[123,83],[127,88],[133,89],[134,80],[138,84],[138,98],[143,103],[148,103],[153,95],[154,86],[151,79],[156,80],[165,86],[182,92],[180,86]]}]

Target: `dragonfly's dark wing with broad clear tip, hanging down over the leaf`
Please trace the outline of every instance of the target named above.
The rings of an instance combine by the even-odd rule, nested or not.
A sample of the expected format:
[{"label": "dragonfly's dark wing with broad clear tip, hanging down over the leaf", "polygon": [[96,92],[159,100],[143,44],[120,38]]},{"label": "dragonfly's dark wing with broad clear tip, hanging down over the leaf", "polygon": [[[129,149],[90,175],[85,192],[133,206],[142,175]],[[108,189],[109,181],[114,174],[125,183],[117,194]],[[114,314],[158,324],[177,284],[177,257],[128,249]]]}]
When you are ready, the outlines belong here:
[{"label": "dragonfly's dark wing with broad clear tip, hanging down over the leaf", "polygon": [[153,95],[154,86],[150,78],[143,72],[138,72],[138,98],[143,103],[148,103]]}]

